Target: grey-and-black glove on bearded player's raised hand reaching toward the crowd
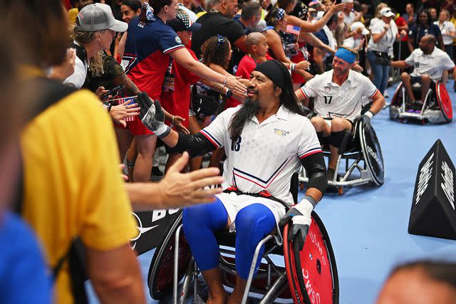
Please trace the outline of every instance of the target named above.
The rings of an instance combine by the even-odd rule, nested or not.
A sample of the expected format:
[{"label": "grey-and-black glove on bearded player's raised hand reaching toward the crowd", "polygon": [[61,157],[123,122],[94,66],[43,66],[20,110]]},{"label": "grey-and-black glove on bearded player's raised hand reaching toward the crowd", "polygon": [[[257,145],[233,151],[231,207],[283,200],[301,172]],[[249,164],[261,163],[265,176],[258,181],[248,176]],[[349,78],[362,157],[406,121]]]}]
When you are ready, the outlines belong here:
[{"label": "grey-and-black glove on bearded player's raised hand reaching toward the crowd", "polygon": [[142,92],[135,98],[136,103],[140,105],[140,119],[142,123],[154,132],[159,138],[163,138],[170,134],[171,128],[165,125],[165,112],[163,112],[162,106],[158,100],[155,100],[152,104],[147,93]]}]

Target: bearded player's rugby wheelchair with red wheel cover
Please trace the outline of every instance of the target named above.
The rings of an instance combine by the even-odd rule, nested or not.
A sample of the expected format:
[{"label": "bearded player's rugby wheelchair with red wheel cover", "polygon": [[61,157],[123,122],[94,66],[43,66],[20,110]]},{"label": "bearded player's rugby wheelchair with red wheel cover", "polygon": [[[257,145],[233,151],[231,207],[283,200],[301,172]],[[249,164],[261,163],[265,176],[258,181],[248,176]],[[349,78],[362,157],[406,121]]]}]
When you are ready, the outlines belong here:
[{"label": "bearded player's rugby wheelchair with red wheel cover", "polygon": [[[291,193],[294,201],[297,201],[297,172],[292,177],[291,184],[293,185]],[[284,228],[283,246],[278,245],[272,235],[266,236],[259,242],[242,303],[254,299],[257,301],[255,303],[337,304],[336,261],[323,222],[315,212],[312,213],[312,224],[302,250],[297,244],[285,241],[289,226],[286,225]],[[147,277],[150,295],[155,300],[161,300],[172,293],[173,304],[186,303],[193,281],[192,303],[204,303],[197,290],[199,271],[181,230],[182,214],[163,237],[150,263]],[[216,238],[221,253],[219,268],[222,270],[224,287],[229,291],[230,288],[234,288],[236,278],[235,234],[218,231]],[[253,277],[255,262],[263,244],[265,244],[265,250],[261,265],[257,275]],[[277,262],[277,255],[284,257],[282,265],[274,263],[274,261]]]}]

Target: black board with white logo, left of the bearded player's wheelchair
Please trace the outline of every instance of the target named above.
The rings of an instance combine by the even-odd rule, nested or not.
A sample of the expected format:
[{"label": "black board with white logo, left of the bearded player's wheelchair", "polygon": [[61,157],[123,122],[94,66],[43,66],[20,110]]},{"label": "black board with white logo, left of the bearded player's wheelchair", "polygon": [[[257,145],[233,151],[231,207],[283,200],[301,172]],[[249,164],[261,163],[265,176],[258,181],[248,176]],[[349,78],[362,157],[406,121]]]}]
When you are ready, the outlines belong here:
[{"label": "black board with white logo, left of the bearded player's wheelchair", "polygon": [[130,240],[130,246],[138,252],[138,255],[157,247],[180,213],[182,213],[180,209],[133,213],[138,234]]}]

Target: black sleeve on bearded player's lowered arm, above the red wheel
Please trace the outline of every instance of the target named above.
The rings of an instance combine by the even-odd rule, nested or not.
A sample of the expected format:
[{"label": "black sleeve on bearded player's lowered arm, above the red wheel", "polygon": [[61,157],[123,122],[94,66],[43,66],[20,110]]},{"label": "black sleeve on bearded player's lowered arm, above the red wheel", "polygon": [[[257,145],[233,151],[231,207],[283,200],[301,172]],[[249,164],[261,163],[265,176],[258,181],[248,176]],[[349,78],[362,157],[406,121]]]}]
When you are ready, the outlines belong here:
[{"label": "black sleeve on bearded player's lowered arm, above the red wheel", "polygon": [[301,159],[301,163],[309,175],[308,188],[316,188],[324,195],[328,187],[328,177],[326,177],[326,164],[323,153],[314,153]]}]

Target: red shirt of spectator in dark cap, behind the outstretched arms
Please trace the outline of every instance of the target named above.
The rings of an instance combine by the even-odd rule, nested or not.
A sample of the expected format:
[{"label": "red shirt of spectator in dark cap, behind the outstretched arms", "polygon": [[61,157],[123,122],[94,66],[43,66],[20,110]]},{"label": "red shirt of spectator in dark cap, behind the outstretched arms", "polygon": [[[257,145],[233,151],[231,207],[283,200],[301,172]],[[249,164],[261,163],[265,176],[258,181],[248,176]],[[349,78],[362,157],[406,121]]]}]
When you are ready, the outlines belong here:
[{"label": "red shirt of spectator in dark cap, behind the outstretched arms", "polygon": [[[195,53],[187,48],[189,53],[197,61]],[[172,80],[174,77],[174,80]],[[170,84],[171,80],[174,85]],[[172,61],[170,68],[165,75],[165,85],[162,89],[162,95],[160,96],[160,103],[162,107],[170,112],[171,115],[177,115],[185,120],[182,122],[184,127],[188,128],[188,110],[190,109],[190,85],[196,83],[199,80],[199,76],[190,72],[179,63]],[[173,90],[168,88],[172,86]],[[167,125],[170,125],[167,122]]]}]

